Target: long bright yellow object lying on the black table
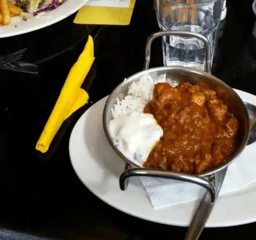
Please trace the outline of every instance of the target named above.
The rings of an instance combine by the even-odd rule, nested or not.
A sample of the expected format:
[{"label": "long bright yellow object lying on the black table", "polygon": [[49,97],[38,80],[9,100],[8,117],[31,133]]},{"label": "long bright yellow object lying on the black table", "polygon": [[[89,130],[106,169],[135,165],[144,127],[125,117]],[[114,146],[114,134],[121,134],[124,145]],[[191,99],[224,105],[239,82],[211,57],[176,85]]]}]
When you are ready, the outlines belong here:
[{"label": "long bright yellow object lying on the black table", "polygon": [[83,52],[69,72],[50,118],[36,144],[38,151],[46,153],[63,121],[87,103],[89,95],[80,86],[90,71],[94,59],[93,39],[89,36]]}]

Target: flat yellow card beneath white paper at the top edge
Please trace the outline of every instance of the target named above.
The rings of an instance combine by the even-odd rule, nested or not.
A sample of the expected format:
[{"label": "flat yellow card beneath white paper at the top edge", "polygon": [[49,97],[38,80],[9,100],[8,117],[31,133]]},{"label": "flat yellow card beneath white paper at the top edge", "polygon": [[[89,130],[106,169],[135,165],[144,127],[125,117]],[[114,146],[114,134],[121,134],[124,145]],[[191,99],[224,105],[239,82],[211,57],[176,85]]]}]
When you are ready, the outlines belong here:
[{"label": "flat yellow card beneath white paper at the top edge", "polygon": [[129,25],[136,0],[131,0],[129,8],[109,6],[83,6],[74,20],[76,24]]}]

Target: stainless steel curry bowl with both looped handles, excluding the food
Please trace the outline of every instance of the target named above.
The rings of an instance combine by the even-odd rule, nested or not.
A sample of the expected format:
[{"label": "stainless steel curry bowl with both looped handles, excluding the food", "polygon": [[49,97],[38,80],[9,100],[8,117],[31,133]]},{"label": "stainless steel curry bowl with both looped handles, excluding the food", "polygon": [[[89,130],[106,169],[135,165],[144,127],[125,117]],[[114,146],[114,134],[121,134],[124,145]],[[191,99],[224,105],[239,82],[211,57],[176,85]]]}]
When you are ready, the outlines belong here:
[{"label": "stainless steel curry bowl with both looped handles, excluding the food", "polygon": [[[206,45],[206,70],[207,72],[194,70],[192,68],[187,67],[157,67],[150,68],[150,49],[152,41],[164,35],[179,35],[185,37],[197,37],[202,40]],[[109,98],[106,101],[103,113],[103,127],[106,134],[106,138],[109,141],[113,150],[126,162],[126,169],[124,169],[123,174],[120,176],[119,183],[120,188],[125,190],[128,185],[128,179],[131,176],[152,176],[152,177],[162,177],[164,179],[174,179],[180,181],[186,181],[191,183],[199,184],[200,186],[206,188],[210,195],[206,194],[204,196],[204,201],[207,204],[201,208],[201,211],[207,212],[205,208],[211,209],[216,198],[218,197],[221,185],[223,183],[226,170],[229,164],[231,164],[237,157],[241,154],[242,150],[246,147],[248,140],[250,139],[250,135],[252,132],[252,127],[255,125],[256,119],[256,107],[251,104],[245,104],[239,95],[227,84],[225,84],[220,79],[212,76],[211,72],[211,46],[208,43],[208,40],[197,33],[191,32],[179,32],[179,31],[164,31],[153,33],[147,40],[146,44],[146,58],[145,58],[145,70],[139,73],[134,74],[133,76],[127,78],[123,83],[119,84],[114,91],[110,94]],[[208,170],[207,172],[201,175],[191,175],[184,173],[173,173],[167,170],[159,170],[159,169],[147,169],[142,168],[141,166],[133,163],[129,159],[127,159],[122,152],[120,152],[113,144],[113,141],[110,136],[109,122],[113,118],[111,108],[114,104],[117,103],[117,98],[119,100],[124,99],[127,95],[127,88],[134,81],[138,81],[140,77],[144,74],[149,74],[151,76],[159,76],[161,74],[166,74],[166,78],[170,80],[171,84],[179,84],[179,83],[207,83],[213,90],[218,93],[218,96],[225,102],[228,106],[230,112],[232,112],[238,119],[240,128],[238,133],[239,147],[237,151],[233,154],[231,159],[221,166]],[[250,108],[250,114],[247,111],[247,107]],[[251,138],[250,143],[255,141],[255,139]],[[117,163],[118,164],[118,163]],[[211,196],[211,198],[209,198]],[[208,206],[208,207],[207,207]],[[203,214],[203,212],[201,212]],[[201,215],[201,217],[203,217]],[[205,216],[206,217],[206,216]],[[200,225],[200,224],[199,224]],[[198,228],[198,226],[197,226]],[[200,229],[200,228],[199,228]],[[192,239],[192,238],[191,238]]]}]

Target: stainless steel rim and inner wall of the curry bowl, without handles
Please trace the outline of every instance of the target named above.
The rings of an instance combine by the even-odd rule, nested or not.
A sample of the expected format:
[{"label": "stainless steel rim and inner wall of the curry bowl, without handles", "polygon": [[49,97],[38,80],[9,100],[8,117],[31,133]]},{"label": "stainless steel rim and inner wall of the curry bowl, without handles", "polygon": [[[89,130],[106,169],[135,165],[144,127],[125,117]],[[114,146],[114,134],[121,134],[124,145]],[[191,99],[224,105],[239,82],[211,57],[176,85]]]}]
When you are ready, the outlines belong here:
[{"label": "stainless steel rim and inner wall of the curry bowl, without handles", "polygon": [[129,163],[132,167],[141,167],[139,164],[135,164],[127,159],[122,154],[122,152],[120,152],[120,150],[118,150],[118,148],[114,146],[109,129],[109,122],[111,119],[113,119],[111,108],[113,108],[113,106],[117,103],[117,99],[124,99],[124,97],[127,95],[127,88],[130,86],[130,84],[134,81],[138,81],[139,78],[142,77],[144,74],[149,74],[150,76],[153,75],[156,77],[160,76],[161,74],[166,74],[167,80],[171,80],[169,82],[176,85],[186,82],[191,84],[207,83],[211,86],[212,89],[217,92],[218,96],[220,96],[220,98],[224,100],[225,104],[228,105],[229,111],[234,113],[234,115],[238,118],[240,124],[238,136],[239,147],[238,150],[234,153],[232,159],[225,162],[220,167],[209,170],[199,176],[205,177],[208,175],[212,175],[215,172],[218,172],[219,170],[227,167],[242,152],[250,136],[250,117],[248,115],[248,112],[246,111],[246,106],[244,102],[242,102],[239,95],[223,81],[206,72],[194,70],[187,67],[157,67],[136,73],[133,76],[127,78],[123,83],[119,84],[114,89],[114,91],[110,94],[109,98],[106,101],[103,114],[103,126],[105,134],[111,147],[125,162]]}]

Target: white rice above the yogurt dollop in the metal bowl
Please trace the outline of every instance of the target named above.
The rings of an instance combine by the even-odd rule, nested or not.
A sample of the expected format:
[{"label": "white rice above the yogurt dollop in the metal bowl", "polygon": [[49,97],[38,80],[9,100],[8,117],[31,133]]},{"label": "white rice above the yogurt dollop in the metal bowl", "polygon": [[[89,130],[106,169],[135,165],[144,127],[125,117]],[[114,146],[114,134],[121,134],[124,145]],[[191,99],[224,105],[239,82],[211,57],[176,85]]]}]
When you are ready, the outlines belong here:
[{"label": "white rice above the yogurt dollop in the metal bowl", "polygon": [[117,104],[111,109],[113,118],[131,114],[132,112],[143,113],[144,107],[153,98],[154,84],[166,83],[166,74],[153,76],[145,74],[137,82],[133,82],[123,100],[117,99]]}]

